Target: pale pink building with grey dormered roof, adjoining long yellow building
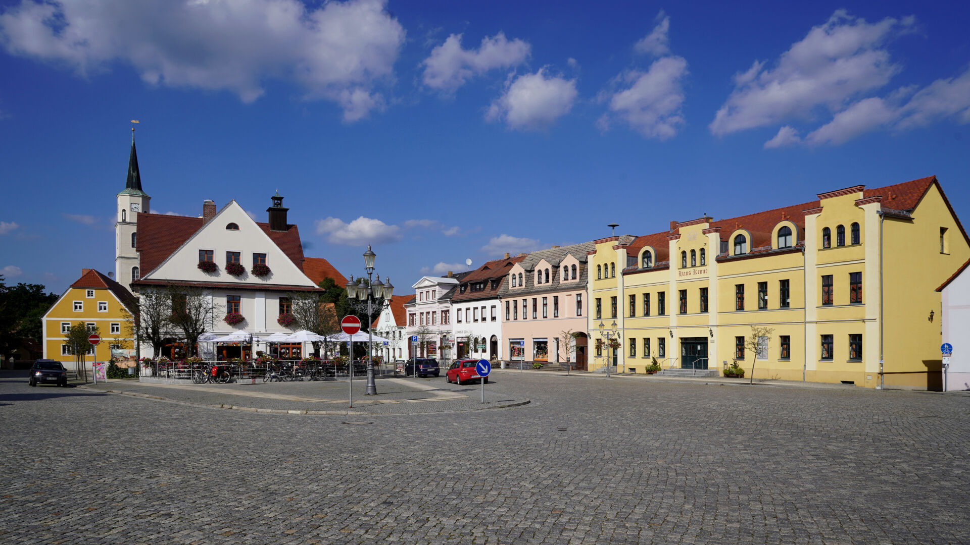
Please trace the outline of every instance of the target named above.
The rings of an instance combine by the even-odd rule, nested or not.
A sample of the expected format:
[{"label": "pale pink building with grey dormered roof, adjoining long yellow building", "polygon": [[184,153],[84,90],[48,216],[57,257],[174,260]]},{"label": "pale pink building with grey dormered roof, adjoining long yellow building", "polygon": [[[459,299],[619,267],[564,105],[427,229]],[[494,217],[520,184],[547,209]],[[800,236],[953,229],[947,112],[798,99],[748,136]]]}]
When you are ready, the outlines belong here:
[{"label": "pale pink building with grey dormered roof, adjoining long yellow building", "polygon": [[565,369],[569,363],[586,369],[586,254],[595,249],[593,242],[553,246],[512,266],[500,296],[503,359],[513,367],[523,362]]}]

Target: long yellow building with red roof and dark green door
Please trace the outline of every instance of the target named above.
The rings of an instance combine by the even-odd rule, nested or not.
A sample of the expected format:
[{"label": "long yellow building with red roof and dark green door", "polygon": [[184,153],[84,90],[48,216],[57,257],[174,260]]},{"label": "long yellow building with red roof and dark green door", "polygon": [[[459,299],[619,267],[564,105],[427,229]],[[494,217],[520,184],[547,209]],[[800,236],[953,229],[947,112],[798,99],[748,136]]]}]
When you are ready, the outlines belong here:
[{"label": "long yellow building with red roof and dark green door", "polygon": [[[618,370],[939,389],[940,294],[970,240],[935,176],[667,232],[597,240],[590,334]],[[599,324],[603,324],[600,330]],[[752,326],[773,331],[746,348]],[[611,350],[593,351],[590,369]]]}]

